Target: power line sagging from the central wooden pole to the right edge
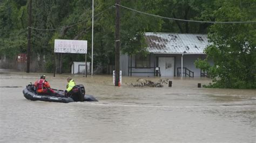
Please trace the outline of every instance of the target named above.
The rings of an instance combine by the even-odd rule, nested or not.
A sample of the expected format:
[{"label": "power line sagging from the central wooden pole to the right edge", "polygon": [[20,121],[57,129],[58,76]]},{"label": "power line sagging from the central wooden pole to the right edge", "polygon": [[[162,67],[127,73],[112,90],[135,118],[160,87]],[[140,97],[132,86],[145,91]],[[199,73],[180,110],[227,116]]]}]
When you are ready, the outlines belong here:
[{"label": "power line sagging from the central wooden pole to the right edge", "polygon": [[256,21],[252,21],[252,22],[209,22],[209,21],[199,21],[199,20],[186,20],[186,19],[178,19],[178,18],[170,18],[170,17],[163,17],[163,16],[158,16],[158,15],[153,15],[150,13],[146,13],[146,12],[142,12],[142,11],[138,11],[138,10],[134,10],[131,8],[127,8],[126,6],[120,5],[120,4],[116,4],[119,5],[125,9],[129,9],[135,12],[139,12],[139,13],[143,13],[144,15],[149,15],[149,16],[154,16],[154,17],[160,17],[160,18],[165,18],[165,19],[171,19],[171,20],[178,20],[178,21],[183,21],[183,22],[195,22],[195,23],[221,23],[221,24],[233,24],[233,23],[256,23]]}]

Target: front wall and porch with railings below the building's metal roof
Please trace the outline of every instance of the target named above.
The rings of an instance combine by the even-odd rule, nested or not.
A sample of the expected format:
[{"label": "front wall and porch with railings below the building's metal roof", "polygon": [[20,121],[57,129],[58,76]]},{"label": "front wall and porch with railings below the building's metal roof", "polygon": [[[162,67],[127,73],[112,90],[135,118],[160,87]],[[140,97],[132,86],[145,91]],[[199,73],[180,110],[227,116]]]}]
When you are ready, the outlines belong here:
[{"label": "front wall and porch with railings below the building's metal roof", "polygon": [[[136,56],[124,58],[120,67],[124,76],[163,76],[163,77],[202,77],[205,73],[194,66],[198,58],[204,59],[205,54],[153,54],[147,60]],[[126,61],[126,64],[125,64]],[[181,74],[183,73],[183,74]]]}]

